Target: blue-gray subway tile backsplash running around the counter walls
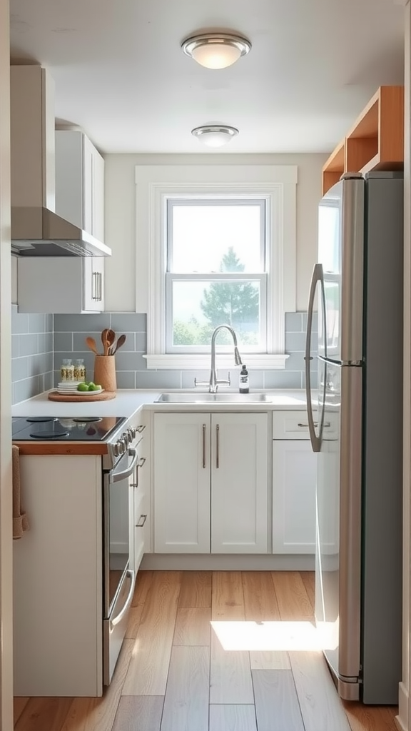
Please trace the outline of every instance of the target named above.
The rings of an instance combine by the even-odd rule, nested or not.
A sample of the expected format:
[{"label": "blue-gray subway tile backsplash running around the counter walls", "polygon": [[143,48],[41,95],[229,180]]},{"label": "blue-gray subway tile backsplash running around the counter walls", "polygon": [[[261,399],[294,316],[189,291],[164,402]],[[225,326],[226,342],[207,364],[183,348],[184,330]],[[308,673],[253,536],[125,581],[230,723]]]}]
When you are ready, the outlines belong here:
[{"label": "blue-gray subway tile backsplash running around the counter walls", "polygon": [[[301,388],[305,386],[304,351],[307,316],[305,312],[287,312],[285,315],[285,369],[249,369],[250,387]],[[12,382],[13,403],[41,393],[60,380],[61,360],[81,357],[87,368],[87,378],[93,378],[94,354],[86,346],[85,338],[95,338],[97,349],[102,350],[101,331],[112,327],[117,335],[125,333],[126,343],[116,355],[118,388],[194,388],[194,379],[208,382],[210,371],[148,371],[146,367],[147,332],[146,314],[119,312],[83,315],[20,314],[12,306]],[[39,328],[39,330],[37,330]],[[42,329],[40,329],[42,328]],[[317,330],[314,315],[313,331]],[[317,348],[316,338],[313,343]],[[238,384],[238,368],[231,373],[231,388]],[[227,371],[219,371],[227,378]],[[312,369],[312,385],[317,374]]]}]

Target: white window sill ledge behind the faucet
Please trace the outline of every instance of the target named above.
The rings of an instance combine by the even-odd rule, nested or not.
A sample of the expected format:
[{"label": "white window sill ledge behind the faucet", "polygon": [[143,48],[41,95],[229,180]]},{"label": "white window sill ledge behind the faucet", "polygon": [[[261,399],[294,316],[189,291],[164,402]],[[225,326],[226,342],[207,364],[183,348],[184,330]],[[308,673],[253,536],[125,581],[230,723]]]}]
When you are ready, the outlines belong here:
[{"label": "white window sill ledge behind the faucet", "polygon": [[[203,353],[197,355],[144,355],[143,357],[147,360],[148,370],[167,370],[172,371],[208,371],[211,364],[211,354]],[[260,370],[266,370],[268,368],[274,368],[278,371],[284,371],[285,361],[288,355],[281,353],[279,355],[252,355],[251,353],[245,353],[243,360],[250,368],[260,368]],[[216,354],[216,366],[217,368],[235,368],[234,356],[231,354],[219,355]]]}]

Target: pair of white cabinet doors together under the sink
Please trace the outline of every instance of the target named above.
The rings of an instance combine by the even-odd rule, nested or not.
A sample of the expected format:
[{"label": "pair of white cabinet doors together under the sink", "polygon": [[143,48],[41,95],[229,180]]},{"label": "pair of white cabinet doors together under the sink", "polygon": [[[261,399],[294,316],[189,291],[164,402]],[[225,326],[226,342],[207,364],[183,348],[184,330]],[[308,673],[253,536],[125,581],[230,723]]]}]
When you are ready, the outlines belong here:
[{"label": "pair of white cabinet doors together under the sink", "polygon": [[267,414],[154,414],[154,551],[267,553],[267,464]]}]

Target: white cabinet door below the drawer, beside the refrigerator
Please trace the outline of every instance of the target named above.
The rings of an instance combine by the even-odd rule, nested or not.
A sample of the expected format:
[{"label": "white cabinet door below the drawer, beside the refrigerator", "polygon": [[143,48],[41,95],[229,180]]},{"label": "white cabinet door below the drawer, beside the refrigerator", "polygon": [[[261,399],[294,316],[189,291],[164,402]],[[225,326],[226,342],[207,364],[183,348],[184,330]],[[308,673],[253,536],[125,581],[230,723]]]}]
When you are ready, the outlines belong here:
[{"label": "white cabinet door below the drawer, beside the refrigerator", "polygon": [[311,442],[273,442],[273,553],[315,553],[316,456]]}]

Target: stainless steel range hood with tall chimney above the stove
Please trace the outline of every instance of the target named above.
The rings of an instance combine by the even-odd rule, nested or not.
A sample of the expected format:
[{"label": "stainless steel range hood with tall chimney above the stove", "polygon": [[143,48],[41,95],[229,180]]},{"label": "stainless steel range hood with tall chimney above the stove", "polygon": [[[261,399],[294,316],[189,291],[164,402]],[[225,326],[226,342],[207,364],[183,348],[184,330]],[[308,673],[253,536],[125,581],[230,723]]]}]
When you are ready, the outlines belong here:
[{"label": "stainless steel range hood with tall chimney above the stove", "polygon": [[10,67],[12,253],[110,257],[111,249],[55,211],[54,85],[39,66]]}]

